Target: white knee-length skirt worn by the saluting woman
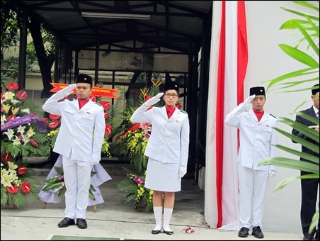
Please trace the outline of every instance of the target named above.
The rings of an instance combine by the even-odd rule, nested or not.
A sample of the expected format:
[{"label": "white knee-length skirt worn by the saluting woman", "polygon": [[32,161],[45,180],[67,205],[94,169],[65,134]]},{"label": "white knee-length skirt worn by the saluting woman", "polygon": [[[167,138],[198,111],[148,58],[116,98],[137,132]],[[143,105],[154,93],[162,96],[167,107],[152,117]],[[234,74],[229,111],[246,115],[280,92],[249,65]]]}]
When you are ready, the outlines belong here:
[{"label": "white knee-length skirt worn by the saluting woman", "polygon": [[162,163],[149,158],[144,186],[156,191],[181,191],[179,169],[179,163]]}]

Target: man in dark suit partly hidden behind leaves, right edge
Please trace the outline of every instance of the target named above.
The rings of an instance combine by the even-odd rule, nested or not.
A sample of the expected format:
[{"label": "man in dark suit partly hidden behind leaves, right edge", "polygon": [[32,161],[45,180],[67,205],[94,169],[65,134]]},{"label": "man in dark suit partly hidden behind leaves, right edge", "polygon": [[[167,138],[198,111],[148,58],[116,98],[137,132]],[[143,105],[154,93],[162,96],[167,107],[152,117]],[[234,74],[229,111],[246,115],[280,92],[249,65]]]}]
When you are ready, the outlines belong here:
[{"label": "man in dark suit partly hidden behind leaves, right edge", "polygon": [[[308,116],[312,116],[314,118],[318,118],[319,120],[319,84],[315,84],[312,87],[312,101],[314,102],[311,108],[307,108],[301,113],[304,113]],[[315,131],[319,133],[319,123],[318,125],[314,125],[311,121],[302,118],[302,116],[296,116],[295,121],[298,123],[302,123],[303,125],[307,125],[309,128],[313,128]],[[303,133],[299,133],[298,130],[292,130],[293,135],[297,135],[299,138],[303,138],[309,142],[312,142],[316,145],[319,145],[319,142],[308,138]],[[294,141],[293,141],[294,142]],[[307,147],[302,146],[302,152],[306,152],[310,155],[314,155],[319,157],[319,153],[316,153]],[[300,158],[302,161],[308,162],[306,159]],[[301,171],[301,176],[310,174],[309,172]],[[318,188],[319,188],[319,179],[301,179],[301,191],[302,191],[302,203],[300,209],[300,220],[302,225],[302,232],[303,232],[303,240],[319,240],[319,220],[317,224],[317,229],[314,228],[311,233],[309,233],[309,228],[312,223],[312,217],[314,213],[316,213],[316,200],[318,198]],[[320,204],[318,203],[318,206]],[[314,237],[315,234],[315,237]]]}]

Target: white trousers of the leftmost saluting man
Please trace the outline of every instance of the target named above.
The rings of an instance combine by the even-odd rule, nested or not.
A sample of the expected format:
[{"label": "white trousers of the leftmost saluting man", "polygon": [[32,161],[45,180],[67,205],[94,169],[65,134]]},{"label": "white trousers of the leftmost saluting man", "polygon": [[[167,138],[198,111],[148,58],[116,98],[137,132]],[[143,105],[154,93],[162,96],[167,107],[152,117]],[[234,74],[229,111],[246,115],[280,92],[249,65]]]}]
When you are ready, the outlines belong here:
[{"label": "white trousers of the leftmost saluting man", "polygon": [[62,167],[64,171],[64,184],[67,218],[86,218],[88,207],[88,193],[91,185],[91,164],[63,157]]}]

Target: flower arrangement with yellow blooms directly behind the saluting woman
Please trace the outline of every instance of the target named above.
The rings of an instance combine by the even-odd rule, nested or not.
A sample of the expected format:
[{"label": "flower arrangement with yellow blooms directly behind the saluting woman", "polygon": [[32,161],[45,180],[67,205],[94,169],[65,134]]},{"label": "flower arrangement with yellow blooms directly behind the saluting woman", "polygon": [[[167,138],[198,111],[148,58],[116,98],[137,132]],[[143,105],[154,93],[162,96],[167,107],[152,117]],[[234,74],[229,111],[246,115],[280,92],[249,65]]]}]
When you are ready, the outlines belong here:
[{"label": "flower arrangement with yellow blooms directly behind the saluting woman", "polygon": [[[141,105],[150,96],[159,93],[159,86],[162,81],[152,82],[153,86],[149,89],[140,89],[141,94],[137,104]],[[131,123],[130,117],[135,112],[136,106],[132,100],[126,103],[125,112],[123,113],[123,123],[120,125],[114,135],[118,135],[115,141],[115,155],[128,155],[132,168],[125,168],[126,178],[118,184],[118,189],[124,191],[124,203],[133,202],[133,207],[137,211],[152,211],[152,194],[153,191],[144,187],[144,179],[147,169],[148,158],[144,156],[144,150],[147,146],[151,125],[148,123]]]}]

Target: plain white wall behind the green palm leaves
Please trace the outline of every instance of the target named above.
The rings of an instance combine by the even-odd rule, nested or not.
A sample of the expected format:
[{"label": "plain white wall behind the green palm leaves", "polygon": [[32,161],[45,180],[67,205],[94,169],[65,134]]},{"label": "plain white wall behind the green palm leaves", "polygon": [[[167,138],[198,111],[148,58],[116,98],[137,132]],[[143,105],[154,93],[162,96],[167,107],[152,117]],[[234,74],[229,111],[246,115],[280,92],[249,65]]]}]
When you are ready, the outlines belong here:
[{"label": "plain white wall behind the green palm leaves", "polygon": [[[314,1],[316,2],[316,1]],[[319,6],[319,4],[318,4]],[[296,18],[292,13],[280,7],[302,9],[292,1],[246,1],[246,22],[248,34],[248,69],[245,80],[245,98],[251,86],[267,86],[265,80],[279,77],[282,74],[301,69],[304,65],[288,57],[280,47],[280,43],[293,45],[297,43],[298,34],[294,30],[280,30],[285,21]],[[303,11],[304,8],[303,8]],[[314,82],[313,84],[316,84]],[[309,87],[313,84],[307,84]],[[301,86],[302,87],[302,86]],[[311,91],[283,93],[282,90],[268,92],[265,111],[276,117],[288,117],[303,101],[308,101],[302,108],[312,106]],[[278,127],[291,131],[287,125],[278,123]],[[298,144],[278,135],[281,145],[300,150]],[[293,157],[279,150],[279,156]],[[296,158],[296,157],[294,157]],[[299,171],[278,168],[278,174],[271,178],[268,184],[268,193],[265,201],[263,216],[264,230],[273,232],[302,232],[300,226],[300,181],[295,180],[284,189],[274,192],[276,184],[289,176],[299,175]]]}]

